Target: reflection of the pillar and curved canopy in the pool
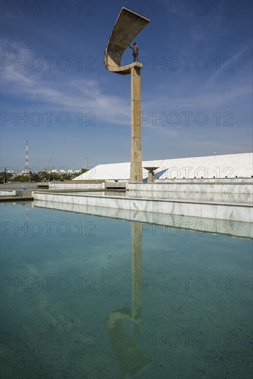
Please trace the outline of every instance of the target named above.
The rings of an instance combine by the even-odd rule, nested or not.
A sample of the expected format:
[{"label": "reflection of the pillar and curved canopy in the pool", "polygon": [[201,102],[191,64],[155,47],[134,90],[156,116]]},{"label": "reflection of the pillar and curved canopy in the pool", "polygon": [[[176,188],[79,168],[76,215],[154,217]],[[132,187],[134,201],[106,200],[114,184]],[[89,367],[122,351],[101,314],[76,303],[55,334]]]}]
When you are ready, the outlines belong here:
[{"label": "reflection of the pillar and curved canopy in the pool", "polygon": [[[141,223],[131,222],[132,240],[132,309],[121,308],[110,312],[105,320],[110,344],[119,360],[124,376],[132,376],[145,369],[150,360],[136,346],[141,320]],[[125,333],[123,320],[134,322],[135,341]]]}]

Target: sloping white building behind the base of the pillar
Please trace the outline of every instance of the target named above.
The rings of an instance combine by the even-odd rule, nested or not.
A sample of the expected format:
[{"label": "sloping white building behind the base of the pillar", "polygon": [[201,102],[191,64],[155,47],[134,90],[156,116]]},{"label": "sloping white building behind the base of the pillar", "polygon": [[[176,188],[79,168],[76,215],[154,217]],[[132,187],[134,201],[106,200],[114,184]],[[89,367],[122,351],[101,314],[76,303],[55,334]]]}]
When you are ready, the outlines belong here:
[{"label": "sloping white building behind the base of the pillar", "polygon": [[[159,167],[155,178],[250,178],[253,175],[253,153],[196,156],[192,158],[159,159],[143,161],[143,167]],[[148,171],[143,168],[143,179]],[[77,176],[74,181],[88,179],[129,181],[130,162],[97,165]]]}]

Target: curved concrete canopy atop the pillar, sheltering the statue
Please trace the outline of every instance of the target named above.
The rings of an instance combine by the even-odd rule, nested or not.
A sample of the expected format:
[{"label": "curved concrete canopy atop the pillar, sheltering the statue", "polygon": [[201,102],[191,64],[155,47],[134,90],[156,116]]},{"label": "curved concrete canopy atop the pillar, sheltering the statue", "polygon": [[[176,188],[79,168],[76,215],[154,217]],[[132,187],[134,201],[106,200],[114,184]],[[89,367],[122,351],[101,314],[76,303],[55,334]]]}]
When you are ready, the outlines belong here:
[{"label": "curved concrete canopy atop the pillar, sheltering the statue", "polygon": [[129,43],[149,22],[149,19],[132,12],[132,10],[121,9],[108,39],[103,57],[103,63],[108,71],[125,75],[130,74],[130,69],[134,65],[142,67],[141,63],[138,62],[121,66],[121,57]]}]

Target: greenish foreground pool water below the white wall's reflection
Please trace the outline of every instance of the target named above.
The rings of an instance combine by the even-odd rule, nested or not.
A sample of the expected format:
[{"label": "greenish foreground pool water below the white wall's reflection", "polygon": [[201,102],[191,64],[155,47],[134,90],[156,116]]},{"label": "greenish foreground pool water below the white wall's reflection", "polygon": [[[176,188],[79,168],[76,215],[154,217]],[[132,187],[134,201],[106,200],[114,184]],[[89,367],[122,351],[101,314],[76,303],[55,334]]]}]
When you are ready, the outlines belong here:
[{"label": "greenish foreground pool water below the white wall's reflection", "polygon": [[252,378],[252,240],[1,204],[1,378]]}]

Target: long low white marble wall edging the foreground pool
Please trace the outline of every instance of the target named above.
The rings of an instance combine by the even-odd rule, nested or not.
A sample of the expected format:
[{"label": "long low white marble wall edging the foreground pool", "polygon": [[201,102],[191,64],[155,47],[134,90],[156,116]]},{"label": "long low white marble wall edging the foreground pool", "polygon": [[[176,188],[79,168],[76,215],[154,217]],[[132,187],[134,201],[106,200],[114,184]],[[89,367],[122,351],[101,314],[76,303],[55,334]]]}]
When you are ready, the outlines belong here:
[{"label": "long low white marble wall edging the foreground pool", "polygon": [[253,206],[249,204],[127,198],[90,194],[60,194],[53,192],[32,192],[32,196],[34,196],[34,201],[52,201],[92,207],[126,209],[135,212],[151,212],[152,214],[175,214],[247,223],[252,223],[253,221]]}]

